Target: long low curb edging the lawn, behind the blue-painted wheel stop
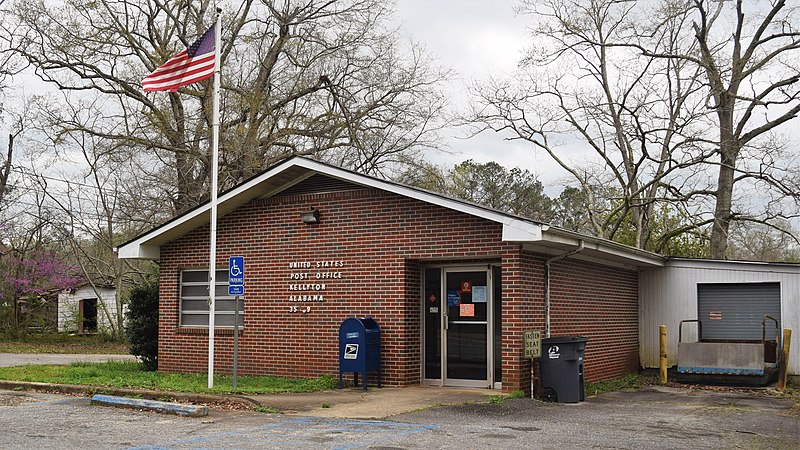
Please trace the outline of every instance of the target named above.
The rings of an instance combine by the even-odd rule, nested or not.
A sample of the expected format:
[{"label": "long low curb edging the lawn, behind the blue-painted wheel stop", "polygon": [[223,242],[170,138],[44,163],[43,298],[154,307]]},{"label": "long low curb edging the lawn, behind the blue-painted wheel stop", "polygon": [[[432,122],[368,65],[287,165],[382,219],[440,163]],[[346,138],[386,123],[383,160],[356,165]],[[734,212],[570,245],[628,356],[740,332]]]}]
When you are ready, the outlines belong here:
[{"label": "long low curb edging the lawn, behind the blue-painted wheel stop", "polygon": [[165,397],[178,401],[197,403],[238,403],[248,409],[261,406],[261,403],[249,397],[240,395],[215,395],[201,394],[198,392],[158,391],[152,389],[115,388],[108,386],[90,386],[80,384],[39,383],[34,381],[5,381],[0,380],[0,389],[18,390],[31,389],[40,391],[55,391],[65,394],[90,396],[97,393],[116,395],[120,397],[136,396],[148,400],[159,400]]}]

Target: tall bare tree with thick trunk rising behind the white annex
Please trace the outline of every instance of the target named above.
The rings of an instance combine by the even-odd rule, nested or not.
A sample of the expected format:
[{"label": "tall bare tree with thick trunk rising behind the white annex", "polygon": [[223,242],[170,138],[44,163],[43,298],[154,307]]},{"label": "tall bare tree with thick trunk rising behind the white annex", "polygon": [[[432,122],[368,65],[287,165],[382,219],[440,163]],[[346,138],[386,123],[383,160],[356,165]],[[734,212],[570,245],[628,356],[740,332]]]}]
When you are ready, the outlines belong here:
[{"label": "tall bare tree with thick trunk rising behind the white annex", "polygon": [[[785,0],[747,2],[747,10],[742,0],[670,5],[661,10],[662,17],[688,17],[696,46],[678,52],[643,49],[643,54],[703,71],[719,154],[711,256],[725,258],[731,222],[755,220],[735,209],[737,183],[760,185],[789,198],[798,192],[793,170],[780,166],[780,146],[769,141],[775,129],[800,113],[800,15]],[[769,215],[761,220],[767,223]]]}]

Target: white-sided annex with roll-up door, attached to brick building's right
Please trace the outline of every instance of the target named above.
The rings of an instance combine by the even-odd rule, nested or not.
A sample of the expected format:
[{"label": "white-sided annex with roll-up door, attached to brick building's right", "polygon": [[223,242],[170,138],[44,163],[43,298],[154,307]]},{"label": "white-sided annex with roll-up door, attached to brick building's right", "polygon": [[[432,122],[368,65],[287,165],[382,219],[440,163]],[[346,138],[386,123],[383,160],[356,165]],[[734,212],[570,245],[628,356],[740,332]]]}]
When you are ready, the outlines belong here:
[{"label": "white-sided annex with roll-up door, attached to brick building's right", "polygon": [[[669,258],[664,267],[639,272],[639,356],[659,365],[658,326],[667,326],[668,366],[677,363],[679,326],[698,319],[704,340],[759,340],[764,315],[780,335],[793,331],[788,372],[800,375],[800,265]],[[776,327],[767,319],[766,338]],[[697,340],[697,324],[683,326],[683,341]]]}]

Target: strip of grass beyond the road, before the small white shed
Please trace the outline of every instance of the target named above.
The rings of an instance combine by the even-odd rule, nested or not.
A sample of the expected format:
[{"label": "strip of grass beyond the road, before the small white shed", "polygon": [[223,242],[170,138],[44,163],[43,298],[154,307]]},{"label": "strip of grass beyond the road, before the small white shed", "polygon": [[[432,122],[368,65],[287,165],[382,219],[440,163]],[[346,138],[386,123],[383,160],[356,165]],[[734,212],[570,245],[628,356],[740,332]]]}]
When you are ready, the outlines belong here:
[{"label": "strip of grass beyond the road, before the small white shed", "polygon": [[128,354],[128,345],[98,335],[70,336],[66,333],[29,334],[22,338],[0,336],[0,353],[93,353]]}]

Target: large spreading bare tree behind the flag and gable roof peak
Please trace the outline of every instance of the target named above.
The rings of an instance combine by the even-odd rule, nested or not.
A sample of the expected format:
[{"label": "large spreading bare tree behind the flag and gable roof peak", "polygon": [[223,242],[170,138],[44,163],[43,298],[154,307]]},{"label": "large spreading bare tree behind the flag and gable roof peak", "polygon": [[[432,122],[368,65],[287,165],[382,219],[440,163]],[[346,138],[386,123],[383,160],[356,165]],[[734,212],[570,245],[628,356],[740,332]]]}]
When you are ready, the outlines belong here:
[{"label": "large spreading bare tree behind the flag and gable roof peak", "polygon": [[[9,47],[84,116],[59,127],[113,142],[174,211],[208,195],[210,80],[146,95],[144,75],[213,23],[200,2],[17,2]],[[379,0],[245,0],[223,17],[223,188],[290,155],[380,173],[435,144],[444,74],[404,49]]]}]

